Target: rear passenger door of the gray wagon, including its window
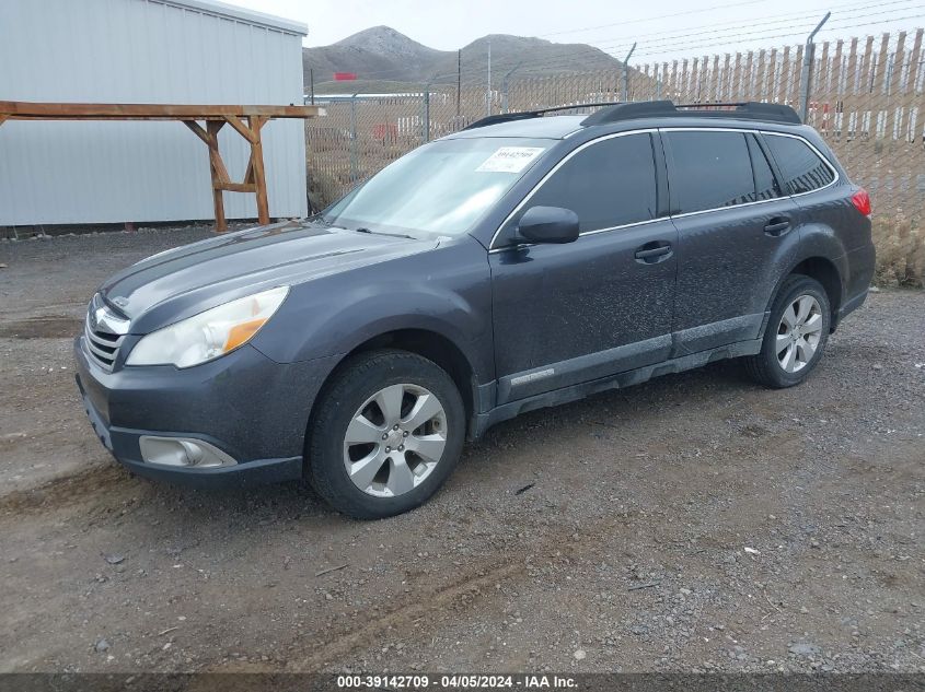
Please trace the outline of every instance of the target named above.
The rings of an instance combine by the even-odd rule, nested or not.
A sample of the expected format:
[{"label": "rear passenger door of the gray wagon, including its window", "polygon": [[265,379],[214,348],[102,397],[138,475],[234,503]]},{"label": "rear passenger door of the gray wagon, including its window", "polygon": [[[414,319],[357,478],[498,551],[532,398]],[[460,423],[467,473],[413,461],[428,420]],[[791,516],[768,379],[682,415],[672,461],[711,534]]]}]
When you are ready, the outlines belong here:
[{"label": "rear passenger door of the gray wagon, including its window", "polygon": [[674,356],[756,339],[799,208],[748,130],[662,131],[678,227]]}]

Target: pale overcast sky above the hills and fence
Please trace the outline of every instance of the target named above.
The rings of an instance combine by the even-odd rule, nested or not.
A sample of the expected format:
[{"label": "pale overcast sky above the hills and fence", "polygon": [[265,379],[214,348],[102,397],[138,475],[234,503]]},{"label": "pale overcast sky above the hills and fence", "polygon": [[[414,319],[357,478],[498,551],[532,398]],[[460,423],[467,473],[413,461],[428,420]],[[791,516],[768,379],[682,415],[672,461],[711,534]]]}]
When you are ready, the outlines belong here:
[{"label": "pale overcast sky above the hills and fence", "polygon": [[925,24],[923,0],[226,0],[309,25],[323,46],[385,24],[432,48],[454,50],[486,34],[588,43],[634,60],[802,43],[832,11],[821,38]]}]

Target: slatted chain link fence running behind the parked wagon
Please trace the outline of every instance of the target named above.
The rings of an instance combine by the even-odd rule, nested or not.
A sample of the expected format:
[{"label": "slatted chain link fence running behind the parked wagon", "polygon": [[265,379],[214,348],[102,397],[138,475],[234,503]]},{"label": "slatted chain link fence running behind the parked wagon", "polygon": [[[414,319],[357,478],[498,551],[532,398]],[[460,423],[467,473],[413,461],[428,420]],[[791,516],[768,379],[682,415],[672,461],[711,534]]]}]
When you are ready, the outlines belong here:
[{"label": "slatted chain link fence running behind the parked wagon", "polygon": [[[698,56],[625,70],[517,80],[500,89],[421,85],[403,95],[317,97],[309,120],[310,199],[322,208],[415,146],[489,113],[668,98],[762,101],[806,112],[874,202],[879,280],[925,281],[923,30],[806,47]],[[808,77],[808,83],[806,83]],[[807,98],[808,93],[808,98]],[[587,108],[585,110],[591,110]]]}]

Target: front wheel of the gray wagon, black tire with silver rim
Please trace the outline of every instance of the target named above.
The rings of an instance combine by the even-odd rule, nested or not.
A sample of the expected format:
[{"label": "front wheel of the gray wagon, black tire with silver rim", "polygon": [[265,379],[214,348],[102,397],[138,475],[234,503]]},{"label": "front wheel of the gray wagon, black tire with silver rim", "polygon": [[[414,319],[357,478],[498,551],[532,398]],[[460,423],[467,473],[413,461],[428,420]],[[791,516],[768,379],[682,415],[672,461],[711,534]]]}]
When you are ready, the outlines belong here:
[{"label": "front wheel of the gray wagon, black tire with silver rim", "polygon": [[350,359],[315,411],[305,476],[331,506],[359,519],[419,506],[462,453],[465,408],[455,384],[437,364],[407,351]]}]

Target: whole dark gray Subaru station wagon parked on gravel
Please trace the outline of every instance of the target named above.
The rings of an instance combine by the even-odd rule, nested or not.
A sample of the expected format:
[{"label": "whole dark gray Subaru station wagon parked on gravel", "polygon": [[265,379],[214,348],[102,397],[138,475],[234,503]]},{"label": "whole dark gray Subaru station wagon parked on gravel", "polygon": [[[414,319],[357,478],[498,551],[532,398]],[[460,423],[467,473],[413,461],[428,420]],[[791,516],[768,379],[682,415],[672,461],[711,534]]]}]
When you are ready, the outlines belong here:
[{"label": "whole dark gray Subaru station wagon parked on gravel", "polygon": [[786,106],[494,116],[310,219],[93,296],[78,386],[132,471],[427,500],[522,411],[741,357],[801,383],[874,272],[870,202]]}]

